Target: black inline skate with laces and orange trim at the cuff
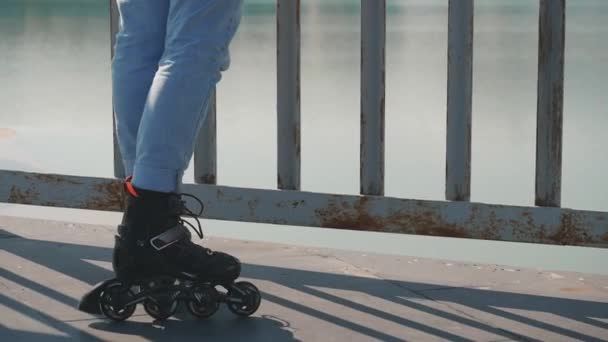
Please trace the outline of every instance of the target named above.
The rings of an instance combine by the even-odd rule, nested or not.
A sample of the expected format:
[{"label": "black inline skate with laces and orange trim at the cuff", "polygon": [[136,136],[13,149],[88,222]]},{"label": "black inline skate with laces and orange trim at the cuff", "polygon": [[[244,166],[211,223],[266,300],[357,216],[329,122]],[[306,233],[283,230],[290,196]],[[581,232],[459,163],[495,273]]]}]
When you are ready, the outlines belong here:
[{"label": "black inline skate with laces and orange trim at the cuff", "polygon": [[[185,206],[181,195],[136,189],[125,182],[127,193],[123,221],[115,238],[112,265],[116,278],[106,280],[85,294],[79,310],[122,321],[136,305],[155,319],[172,316],[179,302],[192,315],[207,318],[224,302],[239,316],[253,314],[261,302],[259,290],[245,281],[235,282],[241,272],[238,259],[214,252],[191,241],[189,225],[202,239],[198,214]],[[198,229],[182,220],[196,219]],[[219,289],[218,289],[219,288]]]}]

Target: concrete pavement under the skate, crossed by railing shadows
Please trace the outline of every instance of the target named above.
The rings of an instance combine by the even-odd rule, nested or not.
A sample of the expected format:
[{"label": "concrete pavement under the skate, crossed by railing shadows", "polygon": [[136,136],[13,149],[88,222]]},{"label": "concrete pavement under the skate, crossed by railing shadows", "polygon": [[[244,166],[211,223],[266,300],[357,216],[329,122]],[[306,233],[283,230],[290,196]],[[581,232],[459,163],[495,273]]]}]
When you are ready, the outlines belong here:
[{"label": "concrete pavement under the skate, crossed by railing shadows", "polygon": [[114,227],[0,217],[0,341],[600,341],[608,277],[211,238],[263,292],[238,319],[222,308],[163,323],[76,310],[112,276]]}]

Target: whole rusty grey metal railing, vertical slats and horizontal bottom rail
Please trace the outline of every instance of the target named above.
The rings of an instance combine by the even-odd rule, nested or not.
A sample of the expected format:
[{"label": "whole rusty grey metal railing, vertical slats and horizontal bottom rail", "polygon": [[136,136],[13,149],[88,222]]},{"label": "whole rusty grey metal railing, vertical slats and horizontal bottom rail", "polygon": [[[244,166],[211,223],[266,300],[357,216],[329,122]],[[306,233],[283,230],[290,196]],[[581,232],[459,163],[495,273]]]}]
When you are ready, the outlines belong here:
[{"label": "whole rusty grey metal railing, vertical slats and horizontal bottom rail", "polygon": [[[111,3],[112,38],[118,13]],[[217,186],[215,101],[194,155],[204,217],[389,233],[608,248],[608,212],[560,208],[565,1],[539,2],[536,205],[470,202],[474,0],[449,0],[446,199],[384,194],[386,1],[361,0],[362,196],[300,190],[300,1],[277,2],[277,188]],[[112,40],[114,41],[114,40]],[[215,95],[214,95],[215,96]],[[115,147],[116,147],[116,141]],[[115,176],[122,161],[115,148]],[[200,184],[203,183],[203,184]],[[0,201],[120,211],[120,181],[0,170]]]}]

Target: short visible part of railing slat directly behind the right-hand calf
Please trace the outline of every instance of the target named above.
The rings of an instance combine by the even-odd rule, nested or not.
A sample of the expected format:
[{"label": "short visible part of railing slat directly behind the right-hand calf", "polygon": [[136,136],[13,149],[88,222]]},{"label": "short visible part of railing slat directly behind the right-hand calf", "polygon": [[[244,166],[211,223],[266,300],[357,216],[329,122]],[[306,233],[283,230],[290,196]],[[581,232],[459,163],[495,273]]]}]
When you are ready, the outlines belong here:
[{"label": "short visible part of railing slat directly behind the right-hand calf", "polygon": [[194,149],[194,182],[217,184],[217,100],[213,91]]}]

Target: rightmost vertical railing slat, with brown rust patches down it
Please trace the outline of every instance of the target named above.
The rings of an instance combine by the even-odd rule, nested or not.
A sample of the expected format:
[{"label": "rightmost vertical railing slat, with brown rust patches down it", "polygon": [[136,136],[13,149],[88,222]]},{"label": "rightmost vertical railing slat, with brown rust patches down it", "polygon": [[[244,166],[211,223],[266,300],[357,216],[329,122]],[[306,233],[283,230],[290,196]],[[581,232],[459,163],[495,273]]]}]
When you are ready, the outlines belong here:
[{"label": "rightmost vertical railing slat, with brown rust patches down it", "polygon": [[535,204],[561,205],[565,0],[541,0]]}]

